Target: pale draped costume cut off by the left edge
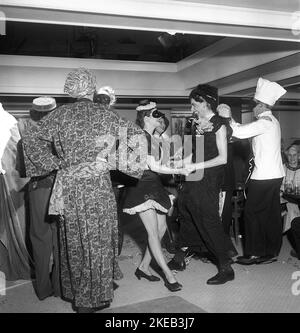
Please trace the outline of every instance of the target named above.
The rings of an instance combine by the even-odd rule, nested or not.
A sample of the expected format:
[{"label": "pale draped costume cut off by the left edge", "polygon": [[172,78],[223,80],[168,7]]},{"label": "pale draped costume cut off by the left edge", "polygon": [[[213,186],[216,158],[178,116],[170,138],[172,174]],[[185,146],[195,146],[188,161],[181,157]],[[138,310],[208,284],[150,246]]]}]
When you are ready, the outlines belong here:
[{"label": "pale draped costume cut off by the left edge", "polygon": [[29,178],[20,175],[17,120],[1,108],[0,124],[0,271],[7,280],[30,279],[24,200]]}]

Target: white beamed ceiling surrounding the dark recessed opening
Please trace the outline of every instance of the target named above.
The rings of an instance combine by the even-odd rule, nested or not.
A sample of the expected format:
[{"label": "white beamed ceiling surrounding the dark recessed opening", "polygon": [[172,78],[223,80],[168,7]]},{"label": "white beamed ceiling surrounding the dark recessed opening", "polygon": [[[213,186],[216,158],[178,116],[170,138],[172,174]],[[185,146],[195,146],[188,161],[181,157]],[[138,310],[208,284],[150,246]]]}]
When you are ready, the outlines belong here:
[{"label": "white beamed ceiling surrounding the dark recessed opening", "polygon": [[[36,77],[51,68],[59,82],[64,71],[76,62],[84,67],[97,69],[99,76],[123,95],[149,94],[162,96],[185,96],[197,83],[215,83],[223,95],[247,96],[259,76],[286,84],[292,89],[287,99],[299,100],[300,85],[300,35],[291,29],[293,12],[300,12],[300,0],[0,0],[8,20],[39,22],[88,27],[104,27],[140,31],[175,31],[182,34],[197,34],[226,37],[207,46],[177,64],[101,61],[101,59],[36,59],[9,56],[1,58],[0,91],[56,92],[47,82],[26,81],[18,87],[17,75],[24,76],[33,67]],[[118,4],[118,5],[117,5]],[[127,5],[125,5],[127,4]],[[219,5],[207,6],[207,5]],[[3,8],[3,6],[2,6]],[[249,10],[245,8],[250,8]],[[1,7],[0,7],[1,9]],[[296,31],[298,32],[298,31]],[[4,63],[4,60],[6,61]],[[72,62],[73,61],[73,62]],[[52,64],[53,62],[53,64]],[[56,72],[52,70],[61,67]],[[46,63],[46,64],[45,64]],[[52,65],[51,65],[52,64]],[[52,67],[51,67],[52,66]],[[73,66],[72,66],[73,67]],[[79,66],[78,66],[79,67]],[[5,73],[16,73],[7,83]],[[114,73],[118,72],[118,80]],[[137,77],[147,72],[147,80]],[[2,75],[2,73],[4,73]],[[26,72],[27,73],[27,72]],[[163,75],[162,75],[163,73]],[[54,75],[53,74],[53,75]],[[1,88],[1,76],[3,88]],[[134,80],[131,77],[135,77]],[[126,84],[119,78],[123,78]],[[149,79],[155,84],[152,85]],[[165,81],[162,81],[165,80]],[[36,83],[37,82],[37,83]],[[128,84],[131,82],[131,86]],[[142,86],[146,82],[147,86]],[[148,84],[148,82],[150,82]],[[157,85],[157,82],[161,86]],[[173,86],[172,86],[173,84]],[[150,86],[151,85],[151,86]],[[11,88],[11,90],[9,90]],[[125,88],[124,88],[125,87]],[[152,90],[151,90],[152,89]],[[57,92],[56,92],[57,93]],[[60,93],[60,92],[58,92]]]}]

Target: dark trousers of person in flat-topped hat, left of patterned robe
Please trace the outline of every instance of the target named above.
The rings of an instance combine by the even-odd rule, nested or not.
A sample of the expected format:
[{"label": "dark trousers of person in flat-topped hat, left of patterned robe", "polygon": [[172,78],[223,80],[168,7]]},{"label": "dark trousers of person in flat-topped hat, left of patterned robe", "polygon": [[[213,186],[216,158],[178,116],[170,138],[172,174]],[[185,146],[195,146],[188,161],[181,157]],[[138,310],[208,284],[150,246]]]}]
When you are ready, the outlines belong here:
[{"label": "dark trousers of person in flat-topped hat, left of patterned robe", "polygon": [[[48,219],[51,188],[36,188],[29,191],[30,240],[35,266],[35,291],[39,298],[52,292],[60,295],[58,235],[56,222]],[[53,253],[53,268],[50,277],[50,257]]]}]

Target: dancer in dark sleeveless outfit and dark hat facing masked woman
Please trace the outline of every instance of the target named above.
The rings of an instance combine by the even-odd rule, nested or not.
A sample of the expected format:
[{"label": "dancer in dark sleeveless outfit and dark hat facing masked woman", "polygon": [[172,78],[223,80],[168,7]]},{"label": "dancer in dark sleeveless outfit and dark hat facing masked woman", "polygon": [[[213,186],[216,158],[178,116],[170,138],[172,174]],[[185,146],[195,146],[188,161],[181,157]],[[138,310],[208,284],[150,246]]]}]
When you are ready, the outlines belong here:
[{"label": "dancer in dark sleeveless outfit and dark hat facing masked woman", "polygon": [[218,273],[207,284],[223,284],[234,279],[231,257],[235,255],[219,215],[219,193],[227,163],[229,126],[215,114],[218,102],[215,87],[198,85],[189,98],[192,112],[198,118],[195,121],[196,133],[203,135],[203,160],[191,164],[201,177],[198,181],[184,184],[181,201],[190,212],[202,241],[216,260]]}]

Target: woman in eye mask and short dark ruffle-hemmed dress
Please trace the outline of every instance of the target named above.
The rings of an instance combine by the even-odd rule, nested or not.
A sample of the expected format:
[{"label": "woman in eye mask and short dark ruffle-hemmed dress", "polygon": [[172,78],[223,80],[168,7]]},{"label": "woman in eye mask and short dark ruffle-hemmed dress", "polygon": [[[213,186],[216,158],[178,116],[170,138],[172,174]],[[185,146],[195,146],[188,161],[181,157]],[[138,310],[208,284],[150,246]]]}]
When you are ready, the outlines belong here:
[{"label": "woman in eye mask and short dark ruffle-hemmed dress", "polygon": [[172,271],[166,264],[161,239],[166,231],[166,214],[172,206],[172,198],[163,187],[158,173],[184,174],[187,169],[171,169],[160,163],[161,150],[159,143],[153,136],[155,128],[160,126],[160,119],[164,114],[159,112],[154,102],[144,100],[137,107],[136,123],[144,129],[148,142],[148,168],[135,187],[132,187],[124,202],[124,212],[139,214],[148,234],[148,246],[139,267],[135,271],[138,279],[141,277],[149,281],[159,281],[157,276],[149,270],[152,255],[165,274],[165,286],[170,291],[178,291],[182,285],[177,282]]}]

